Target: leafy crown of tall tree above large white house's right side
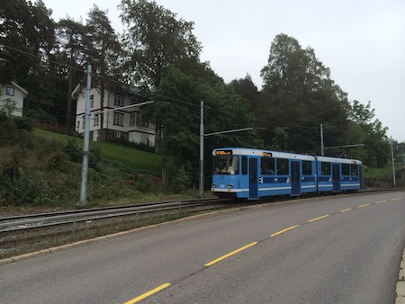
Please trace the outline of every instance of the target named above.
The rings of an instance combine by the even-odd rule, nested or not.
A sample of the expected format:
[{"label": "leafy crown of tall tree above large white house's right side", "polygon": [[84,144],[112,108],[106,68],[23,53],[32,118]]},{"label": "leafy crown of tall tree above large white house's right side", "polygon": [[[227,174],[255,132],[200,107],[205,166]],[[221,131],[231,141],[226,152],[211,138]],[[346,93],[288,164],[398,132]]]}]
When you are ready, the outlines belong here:
[{"label": "leafy crown of tall tree above large white house's right side", "polygon": [[176,19],[176,14],[155,1],[121,0],[121,20],[127,31],[123,45],[130,82],[156,87],[167,67],[184,68],[198,62],[201,44],[193,35],[193,22]]}]

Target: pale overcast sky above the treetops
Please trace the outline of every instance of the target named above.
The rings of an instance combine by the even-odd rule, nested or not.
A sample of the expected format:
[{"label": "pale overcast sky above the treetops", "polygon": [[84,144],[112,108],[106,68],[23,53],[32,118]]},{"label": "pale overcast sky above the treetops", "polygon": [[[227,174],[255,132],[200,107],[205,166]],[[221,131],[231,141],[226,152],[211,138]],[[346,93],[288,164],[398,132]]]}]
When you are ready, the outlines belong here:
[{"label": "pale overcast sky above the treetops", "polygon": [[[118,33],[123,30],[116,8],[120,0],[43,1],[55,21],[69,15],[85,22],[96,3],[108,9],[112,27]],[[210,61],[227,83],[249,74],[260,90],[260,70],[277,34],[295,38],[303,49],[311,46],[349,101],[371,101],[375,118],[389,128],[388,136],[405,141],[404,0],[156,2],[195,23],[193,34],[202,42],[202,61]]]}]

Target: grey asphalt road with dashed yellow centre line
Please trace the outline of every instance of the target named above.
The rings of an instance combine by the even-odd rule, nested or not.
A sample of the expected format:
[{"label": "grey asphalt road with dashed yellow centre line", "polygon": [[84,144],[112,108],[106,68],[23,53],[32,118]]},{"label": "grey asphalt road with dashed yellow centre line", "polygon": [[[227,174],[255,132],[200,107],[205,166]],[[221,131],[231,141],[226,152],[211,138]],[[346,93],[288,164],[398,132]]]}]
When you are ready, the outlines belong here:
[{"label": "grey asphalt road with dashed yellow centre line", "polygon": [[0,303],[394,303],[405,192],[273,203],[0,266]]}]

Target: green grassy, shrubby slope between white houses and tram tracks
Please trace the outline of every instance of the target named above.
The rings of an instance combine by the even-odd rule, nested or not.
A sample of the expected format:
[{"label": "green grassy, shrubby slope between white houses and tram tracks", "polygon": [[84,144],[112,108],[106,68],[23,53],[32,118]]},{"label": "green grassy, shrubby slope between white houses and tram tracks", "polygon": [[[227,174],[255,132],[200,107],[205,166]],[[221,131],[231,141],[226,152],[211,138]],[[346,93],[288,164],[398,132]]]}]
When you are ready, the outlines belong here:
[{"label": "green grassy, shrubby slope between white houses and tram tracks", "polygon": [[[112,143],[90,143],[89,206],[161,201],[162,156]],[[79,200],[83,139],[33,130],[30,121],[0,113],[0,207],[72,208]]]}]

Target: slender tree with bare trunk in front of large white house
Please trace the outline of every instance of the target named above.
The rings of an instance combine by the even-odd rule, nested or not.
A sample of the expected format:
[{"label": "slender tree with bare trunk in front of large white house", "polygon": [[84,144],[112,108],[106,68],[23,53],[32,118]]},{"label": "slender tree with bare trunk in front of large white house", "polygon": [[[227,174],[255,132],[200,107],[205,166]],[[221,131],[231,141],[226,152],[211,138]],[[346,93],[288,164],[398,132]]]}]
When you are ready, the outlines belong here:
[{"label": "slender tree with bare trunk in front of large white house", "polygon": [[[94,4],[88,13],[86,21],[85,47],[87,62],[92,64],[93,72],[99,76],[94,79],[95,85],[100,86],[100,136],[103,141],[103,104],[104,90],[106,83],[110,87],[115,86],[113,82],[121,81],[121,67],[118,64],[121,56],[121,44],[118,36],[112,29],[111,22],[107,17],[108,11],[103,11]],[[113,79],[113,82],[112,82]]]}]

